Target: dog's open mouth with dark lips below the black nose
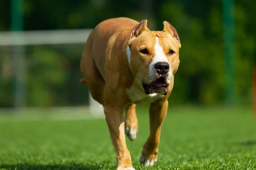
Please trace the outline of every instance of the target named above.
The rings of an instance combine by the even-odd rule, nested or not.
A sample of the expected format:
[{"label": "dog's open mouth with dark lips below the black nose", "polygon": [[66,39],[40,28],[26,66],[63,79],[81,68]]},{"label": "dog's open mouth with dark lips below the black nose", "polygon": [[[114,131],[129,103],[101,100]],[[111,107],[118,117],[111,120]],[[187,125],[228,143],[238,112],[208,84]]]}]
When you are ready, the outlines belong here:
[{"label": "dog's open mouth with dark lips below the black nose", "polygon": [[150,83],[150,84],[145,84],[143,83],[143,88],[145,91],[145,94],[167,94],[168,91],[168,84],[166,83],[166,79],[163,77],[160,77],[156,81]]}]

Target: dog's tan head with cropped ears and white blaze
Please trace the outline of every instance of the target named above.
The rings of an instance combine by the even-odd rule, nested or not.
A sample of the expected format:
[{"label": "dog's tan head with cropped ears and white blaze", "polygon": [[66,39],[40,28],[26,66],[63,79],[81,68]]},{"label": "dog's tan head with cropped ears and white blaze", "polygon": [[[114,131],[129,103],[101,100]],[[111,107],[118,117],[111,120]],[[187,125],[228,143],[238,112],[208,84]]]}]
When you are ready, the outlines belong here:
[{"label": "dog's tan head with cropped ears and white blaze", "polygon": [[163,31],[150,31],[147,20],[131,31],[127,57],[131,71],[145,94],[167,94],[170,79],[179,67],[180,38],[175,28],[163,22]]}]

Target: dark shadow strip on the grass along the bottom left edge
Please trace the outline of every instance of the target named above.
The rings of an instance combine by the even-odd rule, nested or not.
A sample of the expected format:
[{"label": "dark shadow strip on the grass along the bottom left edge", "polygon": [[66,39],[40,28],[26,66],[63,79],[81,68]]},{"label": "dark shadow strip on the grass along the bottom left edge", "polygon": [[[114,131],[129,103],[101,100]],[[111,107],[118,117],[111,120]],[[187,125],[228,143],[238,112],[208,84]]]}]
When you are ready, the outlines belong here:
[{"label": "dark shadow strip on the grass along the bottom left edge", "polygon": [[111,164],[0,164],[0,170],[115,170]]}]

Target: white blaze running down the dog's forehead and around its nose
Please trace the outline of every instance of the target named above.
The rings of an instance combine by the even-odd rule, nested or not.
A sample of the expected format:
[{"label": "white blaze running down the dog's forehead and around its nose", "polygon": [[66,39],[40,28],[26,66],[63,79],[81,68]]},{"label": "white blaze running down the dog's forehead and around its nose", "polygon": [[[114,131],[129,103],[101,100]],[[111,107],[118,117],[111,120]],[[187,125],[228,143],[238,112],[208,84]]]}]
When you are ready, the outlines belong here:
[{"label": "white blaze running down the dog's forehead and around its nose", "polygon": [[[149,72],[148,72],[148,75],[149,75],[149,78],[150,78],[151,81],[154,81],[157,77],[156,76],[156,69],[154,68],[154,65],[157,62],[168,62],[169,63],[168,59],[166,58],[166,55],[163,53],[163,48],[159,44],[158,37],[156,37],[156,45],[154,46],[154,50],[155,50],[155,56],[152,59],[150,65],[149,65]],[[169,65],[170,65],[170,63],[169,63]],[[170,65],[170,68],[169,68],[168,75],[169,75],[168,76],[168,82],[169,82],[171,77],[172,77],[171,65]]]}]

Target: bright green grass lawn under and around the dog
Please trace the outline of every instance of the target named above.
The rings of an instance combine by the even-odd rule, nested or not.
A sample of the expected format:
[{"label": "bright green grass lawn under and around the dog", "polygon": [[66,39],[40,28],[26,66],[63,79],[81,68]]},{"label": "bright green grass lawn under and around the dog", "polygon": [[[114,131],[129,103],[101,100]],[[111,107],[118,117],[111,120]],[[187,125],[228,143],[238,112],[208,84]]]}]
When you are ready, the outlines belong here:
[{"label": "bright green grass lawn under and around the dog", "polygon": [[[139,164],[148,114],[143,108],[137,112],[137,139],[126,140],[136,170],[256,169],[256,122],[250,109],[170,108],[157,165],[148,168]],[[0,121],[1,168],[115,170],[116,159],[105,119],[10,118]]]}]

